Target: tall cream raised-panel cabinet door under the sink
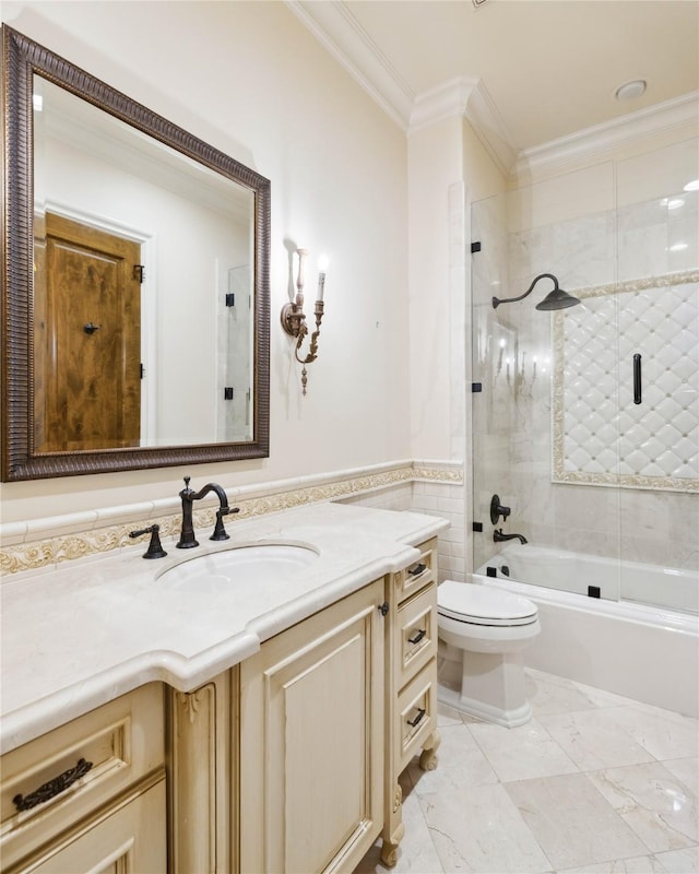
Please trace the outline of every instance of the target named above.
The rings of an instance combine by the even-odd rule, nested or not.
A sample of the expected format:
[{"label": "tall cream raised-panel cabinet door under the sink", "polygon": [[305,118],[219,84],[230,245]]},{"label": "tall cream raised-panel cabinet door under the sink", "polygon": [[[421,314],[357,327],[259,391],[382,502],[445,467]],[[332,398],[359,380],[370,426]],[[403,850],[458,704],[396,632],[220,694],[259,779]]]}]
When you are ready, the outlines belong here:
[{"label": "tall cream raised-panel cabinet door under the sink", "polygon": [[240,672],[240,870],[352,871],[381,829],[377,581],[266,641]]}]

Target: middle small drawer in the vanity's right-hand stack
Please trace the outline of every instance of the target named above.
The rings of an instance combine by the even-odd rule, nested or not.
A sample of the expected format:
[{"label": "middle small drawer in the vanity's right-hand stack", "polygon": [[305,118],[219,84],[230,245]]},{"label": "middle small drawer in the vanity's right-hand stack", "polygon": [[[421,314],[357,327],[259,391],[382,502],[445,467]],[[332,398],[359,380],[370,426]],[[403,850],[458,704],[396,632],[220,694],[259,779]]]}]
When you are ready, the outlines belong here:
[{"label": "middle small drawer in the vanity's right-hand stack", "polygon": [[430,583],[414,598],[404,601],[399,611],[393,635],[395,687],[402,688],[411,677],[437,656],[437,587]]}]

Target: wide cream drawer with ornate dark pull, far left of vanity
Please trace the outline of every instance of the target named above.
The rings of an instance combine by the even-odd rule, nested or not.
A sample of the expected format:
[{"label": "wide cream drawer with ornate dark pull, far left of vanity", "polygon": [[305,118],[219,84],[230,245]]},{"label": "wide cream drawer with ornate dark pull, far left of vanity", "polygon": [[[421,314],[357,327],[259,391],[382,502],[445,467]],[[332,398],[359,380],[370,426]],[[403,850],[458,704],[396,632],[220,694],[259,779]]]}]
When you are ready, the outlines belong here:
[{"label": "wide cream drawer with ornate dark pull, far left of vanity", "polygon": [[0,793],[3,863],[50,840],[164,761],[159,683],[5,754]]}]

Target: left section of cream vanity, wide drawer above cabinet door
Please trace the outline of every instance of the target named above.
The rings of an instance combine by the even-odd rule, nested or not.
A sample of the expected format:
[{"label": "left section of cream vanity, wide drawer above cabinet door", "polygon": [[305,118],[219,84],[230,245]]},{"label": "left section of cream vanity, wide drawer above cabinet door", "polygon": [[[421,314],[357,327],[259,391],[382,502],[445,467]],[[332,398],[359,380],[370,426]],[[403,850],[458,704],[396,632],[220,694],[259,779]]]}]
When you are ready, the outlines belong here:
[{"label": "left section of cream vanity, wide drawer above cabinet door", "polygon": [[2,757],[5,874],[166,871],[163,698],[142,686]]}]

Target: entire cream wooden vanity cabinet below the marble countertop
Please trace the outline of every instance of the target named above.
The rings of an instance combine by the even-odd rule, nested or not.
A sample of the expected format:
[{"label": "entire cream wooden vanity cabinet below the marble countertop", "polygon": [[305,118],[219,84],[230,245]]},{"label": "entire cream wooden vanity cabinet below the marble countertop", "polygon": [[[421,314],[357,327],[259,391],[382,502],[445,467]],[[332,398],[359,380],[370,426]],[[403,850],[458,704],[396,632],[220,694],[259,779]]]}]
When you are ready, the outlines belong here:
[{"label": "entire cream wooden vanity cabinet below the marble countertop", "polygon": [[439,742],[436,547],[192,692],[150,683],[5,754],[4,874],[352,872],[379,837],[394,864],[399,777]]}]

